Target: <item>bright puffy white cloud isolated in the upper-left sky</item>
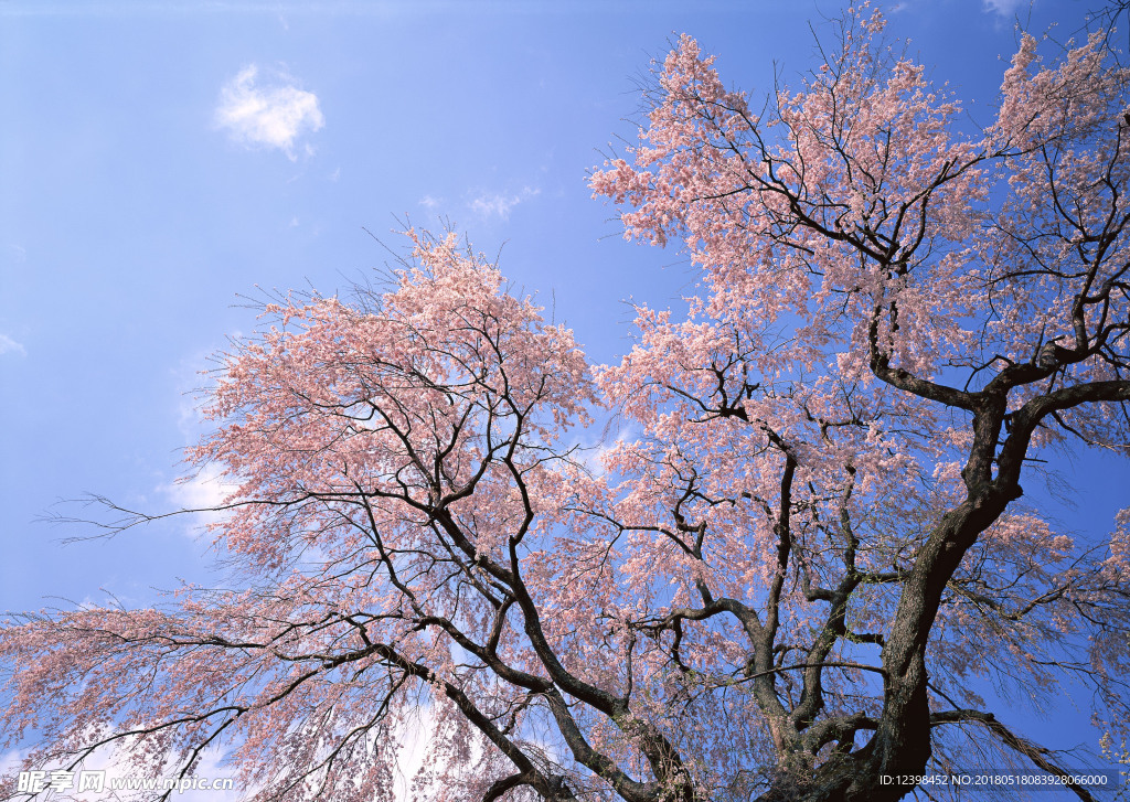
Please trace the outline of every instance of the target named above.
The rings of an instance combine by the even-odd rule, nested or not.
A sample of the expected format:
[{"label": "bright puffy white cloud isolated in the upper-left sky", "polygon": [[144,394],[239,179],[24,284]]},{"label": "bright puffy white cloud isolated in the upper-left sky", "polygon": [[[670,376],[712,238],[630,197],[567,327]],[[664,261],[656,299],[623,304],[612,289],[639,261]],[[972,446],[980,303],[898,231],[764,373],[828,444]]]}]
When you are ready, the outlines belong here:
[{"label": "bright puffy white cloud isolated in the upper-left sky", "polygon": [[[325,125],[318,96],[297,88],[285,72],[258,79],[259,68],[251,64],[220,89],[216,125],[236,142],[278,148],[293,162],[295,140]],[[305,152],[313,149],[306,145]]]}]

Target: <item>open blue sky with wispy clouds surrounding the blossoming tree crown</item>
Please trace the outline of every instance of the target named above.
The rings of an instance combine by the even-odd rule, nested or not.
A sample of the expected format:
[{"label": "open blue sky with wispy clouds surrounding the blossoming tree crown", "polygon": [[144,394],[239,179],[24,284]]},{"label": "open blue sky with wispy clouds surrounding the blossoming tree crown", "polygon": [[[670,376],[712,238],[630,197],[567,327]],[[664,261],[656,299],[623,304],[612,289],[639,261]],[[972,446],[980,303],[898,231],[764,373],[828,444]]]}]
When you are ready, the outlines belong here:
[{"label": "open blue sky with wispy clouds surrounding the blossoming tree crown", "polygon": [[[1097,3],[1097,0],[1096,0]],[[889,33],[988,105],[1020,15],[1067,38],[1087,0],[880,3]],[[596,361],[623,300],[677,303],[673,251],[623,242],[585,171],[632,140],[637,79],[679,33],[757,93],[811,63],[836,2],[0,0],[0,608],[127,603],[208,582],[185,522],[69,547],[34,523],[85,491],[160,511],[199,435],[190,391],[257,287],[345,288],[441,217],[570,322]],[[609,143],[612,145],[609,145]],[[1084,455],[1075,524],[1110,526],[1124,465]],[[191,491],[192,488],[189,488]],[[195,488],[206,494],[207,488]],[[201,497],[201,496],[198,496]],[[56,508],[58,509],[58,508]],[[61,508],[73,514],[73,508]],[[1035,724],[1070,747],[1096,735]],[[1050,797],[1049,797],[1050,799]]]}]

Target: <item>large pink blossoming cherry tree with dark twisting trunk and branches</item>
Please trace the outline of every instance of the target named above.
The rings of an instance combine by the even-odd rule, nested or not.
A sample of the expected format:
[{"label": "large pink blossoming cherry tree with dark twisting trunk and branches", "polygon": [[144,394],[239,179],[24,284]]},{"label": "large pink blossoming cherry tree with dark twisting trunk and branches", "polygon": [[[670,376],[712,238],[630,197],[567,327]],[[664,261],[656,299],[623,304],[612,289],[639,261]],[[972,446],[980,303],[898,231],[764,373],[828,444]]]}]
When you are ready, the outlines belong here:
[{"label": "large pink blossoming cherry tree with dark twisting trunk and branches", "polygon": [[592,188],[701,285],[618,365],[451,236],[366,303],[271,306],[189,452],[246,590],[11,618],[27,766],[223,746],[255,800],[391,800],[423,729],[421,800],[881,802],[1064,776],[990,682],[1086,682],[1124,735],[1130,511],[1076,542],[1022,480],[1128,453],[1130,72],[1024,35],[972,131],[881,28],[760,112],[689,37],[657,68]]}]

